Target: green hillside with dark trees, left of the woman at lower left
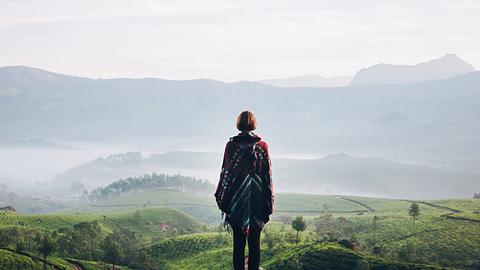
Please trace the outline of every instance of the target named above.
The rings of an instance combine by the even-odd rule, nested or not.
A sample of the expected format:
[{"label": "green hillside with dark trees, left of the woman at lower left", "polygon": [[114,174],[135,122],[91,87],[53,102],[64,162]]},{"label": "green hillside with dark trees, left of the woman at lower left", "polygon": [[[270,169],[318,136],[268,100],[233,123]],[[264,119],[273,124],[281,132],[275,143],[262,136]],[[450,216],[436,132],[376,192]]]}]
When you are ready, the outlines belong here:
[{"label": "green hillside with dark trees, left of the woman at lower left", "polygon": [[[14,264],[36,267],[36,262],[41,261],[47,262],[45,267],[48,267],[53,264],[48,262],[54,262],[58,269],[77,269],[72,264],[77,267],[82,265],[81,269],[102,269],[103,263],[96,261],[133,269],[156,269],[158,264],[152,263],[146,245],[166,237],[202,230],[201,224],[192,217],[168,208],[108,215],[25,216],[2,212],[0,222],[0,247],[36,256],[30,262],[28,258],[14,254],[15,261],[18,261]],[[58,265],[63,265],[63,268]]]}]

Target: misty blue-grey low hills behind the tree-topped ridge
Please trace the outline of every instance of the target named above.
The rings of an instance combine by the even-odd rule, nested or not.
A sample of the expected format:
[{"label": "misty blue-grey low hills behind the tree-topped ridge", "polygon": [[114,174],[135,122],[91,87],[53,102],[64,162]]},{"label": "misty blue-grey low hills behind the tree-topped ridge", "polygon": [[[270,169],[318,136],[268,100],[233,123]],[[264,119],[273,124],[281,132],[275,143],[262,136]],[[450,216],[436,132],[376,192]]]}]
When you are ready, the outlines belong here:
[{"label": "misty blue-grey low hills behind the tree-topped ridge", "polygon": [[[55,183],[56,187],[63,185],[65,189],[73,181],[91,187],[92,183],[107,185],[132,175],[169,172],[201,175],[216,185],[221,160],[221,154],[209,152],[174,151],[145,158],[139,153],[124,153],[79,165],[59,174]],[[344,153],[318,159],[273,158],[272,166],[274,185],[279,192],[410,199],[470,198],[480,181],[478,173]]]}]

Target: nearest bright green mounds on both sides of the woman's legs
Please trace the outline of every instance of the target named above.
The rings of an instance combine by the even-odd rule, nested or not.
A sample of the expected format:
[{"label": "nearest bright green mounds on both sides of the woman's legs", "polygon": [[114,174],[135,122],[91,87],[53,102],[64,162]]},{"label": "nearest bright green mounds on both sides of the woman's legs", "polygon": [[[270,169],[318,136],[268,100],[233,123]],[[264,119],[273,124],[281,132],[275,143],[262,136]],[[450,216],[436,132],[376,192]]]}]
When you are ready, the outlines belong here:
[{"label": "nearest bright green mounds on both sides of the woman's legs", "polygon": [[[227,234],[181,236],[151,247],[167,269],[229,269],[231,243]],[[262,245],[262,267],[274,269],[441,269],[401,263],[353,251],[336,243],[309,242],[286,244],[269,249]]]}]

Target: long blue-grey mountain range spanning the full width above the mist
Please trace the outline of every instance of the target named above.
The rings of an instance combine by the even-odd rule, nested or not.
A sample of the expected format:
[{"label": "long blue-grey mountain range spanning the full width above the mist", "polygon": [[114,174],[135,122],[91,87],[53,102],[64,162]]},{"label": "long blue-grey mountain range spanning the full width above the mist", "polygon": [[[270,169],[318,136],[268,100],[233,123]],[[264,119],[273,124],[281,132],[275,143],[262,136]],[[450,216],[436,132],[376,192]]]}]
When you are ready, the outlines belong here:
[{"label": "long blue-grey mountain range spanning the full width above the mist", "polygon": [[16,142],[141,142],[165,146],[159,151],[220,152],[236,133],[237,114],[251,109],[276,154],[346,152],[479,172],[479,89],[478,71],[408,84],[279,88],[4,67],[0,130]]}]

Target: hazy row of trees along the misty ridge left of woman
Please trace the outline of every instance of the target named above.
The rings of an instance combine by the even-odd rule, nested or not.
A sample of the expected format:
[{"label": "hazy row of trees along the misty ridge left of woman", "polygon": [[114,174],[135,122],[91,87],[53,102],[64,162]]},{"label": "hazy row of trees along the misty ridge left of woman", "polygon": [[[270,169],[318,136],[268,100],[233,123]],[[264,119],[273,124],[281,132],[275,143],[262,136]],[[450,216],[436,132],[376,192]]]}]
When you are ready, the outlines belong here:
[{"label": "hazy row of trees along the misty ridge left of woman", "polygon": [[141,177],[128,177],[106,187],[96,188],[87,193],[90,201],[101,201],[112,196],[121,196],[134,192],[170,189],[194,194],[210,194],[213,184],[206,180],[180,174],[146,174]]}]

